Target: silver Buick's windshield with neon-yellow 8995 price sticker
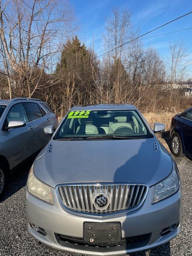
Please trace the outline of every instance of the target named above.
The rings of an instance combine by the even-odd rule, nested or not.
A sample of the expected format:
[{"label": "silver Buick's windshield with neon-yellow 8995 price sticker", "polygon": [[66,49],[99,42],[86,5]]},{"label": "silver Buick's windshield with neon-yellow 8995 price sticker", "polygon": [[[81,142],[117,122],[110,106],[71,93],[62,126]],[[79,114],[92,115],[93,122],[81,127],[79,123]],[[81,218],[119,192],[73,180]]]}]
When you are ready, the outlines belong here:
[{"label": "silver Buick's windshield with neon-yellow 8995 price sticker", "polygon": [[71,111],[54,139],[151,138],[152,134],[135,110]]}]

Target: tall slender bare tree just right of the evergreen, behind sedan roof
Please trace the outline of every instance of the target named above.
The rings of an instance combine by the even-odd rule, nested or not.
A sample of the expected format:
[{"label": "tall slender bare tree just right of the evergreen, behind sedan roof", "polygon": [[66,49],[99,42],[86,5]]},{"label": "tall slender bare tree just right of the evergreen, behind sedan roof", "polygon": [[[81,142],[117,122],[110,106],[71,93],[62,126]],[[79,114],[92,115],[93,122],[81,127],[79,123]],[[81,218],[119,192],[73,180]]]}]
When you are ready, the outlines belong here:
[{"label": "tall slender bare tree just right of the evergreen, behind sedan roof", "polygon": [[113,97],[110,97],[111,100],[119,103],[124,98],[125,87],[129,83],[129,77],[124,66],[126,52],[130,47],[126,42],[134,34],[128,9],[114,8],[112,16],[106,19],[105,29],[104,48],[108,52],[104,59],[105,70],[108,74],[107,90],[110,92],[109,95],[113,93]]}]

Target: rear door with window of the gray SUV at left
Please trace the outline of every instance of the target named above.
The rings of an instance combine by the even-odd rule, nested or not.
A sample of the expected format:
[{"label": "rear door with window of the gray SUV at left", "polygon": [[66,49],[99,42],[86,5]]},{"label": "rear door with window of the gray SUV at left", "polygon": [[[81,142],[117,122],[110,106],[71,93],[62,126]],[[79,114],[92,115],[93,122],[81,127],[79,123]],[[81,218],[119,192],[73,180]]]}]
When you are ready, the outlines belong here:
[{"label": "rear door with window of the gray SUV at left", "polygon": [[42,149],[50,140],[50,134],[44,133],[44,127],[50,125],[47,112],[35,102],[26,102],[25,106],[31,121],[36,129],[37,148]]}]

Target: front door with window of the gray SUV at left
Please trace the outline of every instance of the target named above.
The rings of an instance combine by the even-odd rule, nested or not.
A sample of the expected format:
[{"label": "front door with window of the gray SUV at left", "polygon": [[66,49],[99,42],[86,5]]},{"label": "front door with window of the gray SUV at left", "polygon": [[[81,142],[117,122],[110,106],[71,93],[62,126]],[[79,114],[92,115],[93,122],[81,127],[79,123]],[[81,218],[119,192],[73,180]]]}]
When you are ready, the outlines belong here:
[{"label": "front door with window of the gray SUV at left", "polygon": [[10,108],[4,120],[4,125],[6,126],[10,121],[18,120],[24,121],[26,126],[4,131],[10,140],[13,167],[37,151],[36,130],[32,129],[26,109],[22,103],[14,104]]}]

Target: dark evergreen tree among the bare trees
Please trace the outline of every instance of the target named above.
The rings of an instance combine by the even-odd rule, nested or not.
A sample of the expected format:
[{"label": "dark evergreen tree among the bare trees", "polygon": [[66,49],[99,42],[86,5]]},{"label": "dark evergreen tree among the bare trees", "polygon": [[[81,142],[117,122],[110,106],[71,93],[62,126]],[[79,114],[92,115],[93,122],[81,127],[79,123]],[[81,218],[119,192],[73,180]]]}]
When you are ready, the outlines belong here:
[{"label": "dark evergreen tree among the bare trees", "polygon": [[68,40],[63,46],[60,62],[56,66],[56,76],[62,84],[66,81],[75,82],[76,89],[82,97],[82,104],[91,101],[91,88],[94,86],[92,68],[97,62],[93,61],[93,53],[81,44],[77,36]]}]

